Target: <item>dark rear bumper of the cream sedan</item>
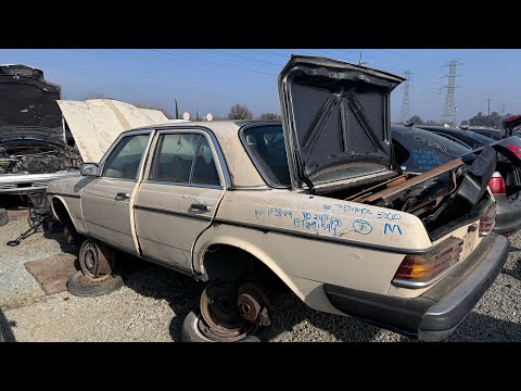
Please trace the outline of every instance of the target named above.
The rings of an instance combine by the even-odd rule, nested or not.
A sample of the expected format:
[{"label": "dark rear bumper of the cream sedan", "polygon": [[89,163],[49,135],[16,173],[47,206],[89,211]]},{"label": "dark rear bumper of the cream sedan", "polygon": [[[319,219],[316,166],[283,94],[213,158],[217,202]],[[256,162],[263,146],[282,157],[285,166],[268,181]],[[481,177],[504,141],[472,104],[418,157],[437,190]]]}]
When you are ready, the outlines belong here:
[{"label": "dark rear bumper of the cream sedan", "polygon": [[471,255],[420,297],[406,299],[325,285],[344,314],[424,341],[440,341],[459,325],[494,282],[510,242],[491,234]]}]

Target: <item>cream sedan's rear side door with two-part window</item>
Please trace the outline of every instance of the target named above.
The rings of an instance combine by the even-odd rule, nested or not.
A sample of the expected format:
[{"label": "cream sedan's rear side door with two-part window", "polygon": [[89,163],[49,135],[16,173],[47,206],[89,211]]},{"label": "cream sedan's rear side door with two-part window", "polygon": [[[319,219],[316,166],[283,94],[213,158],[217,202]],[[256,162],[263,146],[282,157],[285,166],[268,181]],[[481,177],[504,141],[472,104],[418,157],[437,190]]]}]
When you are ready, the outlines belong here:
[{"label": "cream sedan's rear side door with two-part window", "polygon": [[158,131],[135,205],[143,255],[191,270],[192,244],[224,192],[218,164],[205,131]]}]

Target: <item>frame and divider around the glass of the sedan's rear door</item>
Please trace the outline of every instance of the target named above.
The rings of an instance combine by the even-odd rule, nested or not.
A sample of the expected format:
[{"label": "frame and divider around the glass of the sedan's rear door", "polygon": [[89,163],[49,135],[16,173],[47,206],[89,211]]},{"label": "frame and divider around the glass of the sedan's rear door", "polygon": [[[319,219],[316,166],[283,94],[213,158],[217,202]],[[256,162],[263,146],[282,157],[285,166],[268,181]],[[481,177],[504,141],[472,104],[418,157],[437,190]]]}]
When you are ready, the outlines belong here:
[{"label": "frame and divider around the glass of the sedan's rear door", "polygon": [[[173,182],[173,181],[163,181],[163,180],[150,179],[150,175],[151,175],[151,172],[152,172],[152,164],[155,162],[156,156],[161,153],[161,151],[158,150],[161,136],[176,135],[176,134],[199,135],[199,136],[202,136],[202,137],[206,138],[206,141],[208,142],[209,149],[212,150],[212,157],[214,160],[215,169],[217,171],[217,175],[219,177],[219,185],[204,185],[204,184],[192,184],[191,182],[192,181],[192,176],[193,176],[193,169],[195,167],[195,160],[196,160],[195,157],[199,153],[199,149],[201,148],[201,142],[203,140],[202,138],[200,138],[199,141],[198,141],[198,147],[196,147],[195,153],[194,153],[193,159],[192,159],[192,165],[190,166],[190,177],[189,177],[188,182]],[[223,178],[220,169],[219,169],[219,166],[220,166],[220,161],[218,159],[219,156],[217,154],[217,151],[216,151],[216,148],[215,148],[215,144],[213,142],[212,137],[209,137],[206,131],[199,130],[199,129],[193,129],[193,128],[192,129],[190,129],[190,128],[157,129],[155,139],[153,140],[153,143],[152,143],[150,150],[153,151],[153,153],[152,153],[151,159],[149,159],[149,162],[147,164],[144,176],[143,176],[144,177],[143,182],[154,184],[154,185],[186,186],[186,187],[204,188],[204,189],[219,189],[219,190],[223,190],[225,188],[224,184],[226,184],[226,180]]]}]

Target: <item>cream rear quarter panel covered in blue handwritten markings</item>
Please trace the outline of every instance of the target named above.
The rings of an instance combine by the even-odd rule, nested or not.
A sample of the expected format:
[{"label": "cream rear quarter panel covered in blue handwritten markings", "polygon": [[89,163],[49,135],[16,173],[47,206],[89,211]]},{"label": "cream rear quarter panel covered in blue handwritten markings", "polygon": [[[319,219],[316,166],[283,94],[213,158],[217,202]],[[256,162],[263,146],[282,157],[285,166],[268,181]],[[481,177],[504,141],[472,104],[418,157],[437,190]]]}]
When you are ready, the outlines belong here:
[{"label": "cream rear quarter panel covered in blue handwritten markings", "polygon": [[237,245],[297,294],[300,280],[386,294],[407,250],[431,247],[414,215],[289,190],[227,191],[215,223],[195,243],[195,270],[208,245]]}]

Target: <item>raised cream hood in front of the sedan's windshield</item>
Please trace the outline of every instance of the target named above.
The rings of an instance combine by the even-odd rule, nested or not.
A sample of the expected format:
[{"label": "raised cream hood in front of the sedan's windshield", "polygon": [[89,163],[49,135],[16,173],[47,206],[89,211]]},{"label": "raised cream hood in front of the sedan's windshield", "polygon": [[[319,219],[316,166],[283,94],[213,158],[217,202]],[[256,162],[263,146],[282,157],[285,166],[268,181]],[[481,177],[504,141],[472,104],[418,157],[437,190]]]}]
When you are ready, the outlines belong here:
[{"label": "raised cream hood in front of the sedan's windshield", "polygon": [[158,110],[139,109],[112,99],[60,100],[58,104],[84,162],[100,162],[125,130],[168,122]]}]

